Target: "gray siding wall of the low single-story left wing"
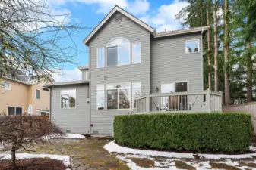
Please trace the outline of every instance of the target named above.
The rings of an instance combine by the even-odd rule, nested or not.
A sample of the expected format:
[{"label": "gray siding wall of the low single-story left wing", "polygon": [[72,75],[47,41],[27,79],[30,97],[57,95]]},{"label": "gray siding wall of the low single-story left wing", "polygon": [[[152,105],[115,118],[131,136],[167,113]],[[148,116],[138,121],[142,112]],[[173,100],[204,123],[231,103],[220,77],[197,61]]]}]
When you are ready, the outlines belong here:
[{"label": "gray siding wall of the low single-story left wing", "polygon": [[[61,90],[76,89],[76,107],[61,108]],[[90,133],[90,110],[87,103],[89,85],[53,86],[51,91],[51,119],[71,133]]]}]

